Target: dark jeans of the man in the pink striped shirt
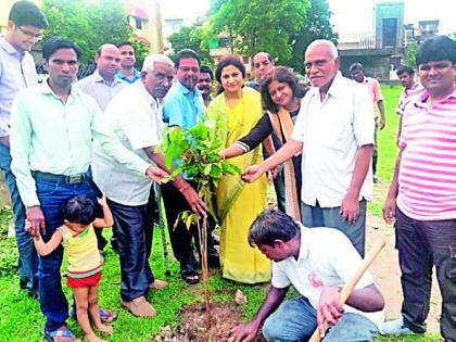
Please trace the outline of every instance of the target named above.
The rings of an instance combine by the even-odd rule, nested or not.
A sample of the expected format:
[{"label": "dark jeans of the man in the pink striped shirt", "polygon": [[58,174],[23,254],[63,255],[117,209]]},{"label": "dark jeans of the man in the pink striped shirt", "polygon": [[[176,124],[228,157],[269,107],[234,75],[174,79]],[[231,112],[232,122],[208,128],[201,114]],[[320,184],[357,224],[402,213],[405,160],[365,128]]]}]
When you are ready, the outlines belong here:
[{"label": "dark jeans of the man in the pink striped shirt", "polygon": [[456,341],[456,219],[417,220],[397,208],[395,227],[404,325],[418,333],[426,331],[435,265],[442,293],[441,333],[446,341]]}]

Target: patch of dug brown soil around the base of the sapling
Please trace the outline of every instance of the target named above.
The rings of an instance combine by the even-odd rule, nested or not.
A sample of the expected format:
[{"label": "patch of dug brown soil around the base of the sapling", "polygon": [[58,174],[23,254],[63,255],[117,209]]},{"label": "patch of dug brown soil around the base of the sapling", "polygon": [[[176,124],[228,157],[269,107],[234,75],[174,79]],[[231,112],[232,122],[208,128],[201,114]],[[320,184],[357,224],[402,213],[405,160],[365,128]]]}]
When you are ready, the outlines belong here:
[{"label": "patch of dug brown soil around the base of the sapling", "polygon": [[[191,304],[181,309],[181,324],[172,330],[164,327],[156,342],[231,342],[232,328],[242,322],[239,306],[225,303],[212,304],[212,324],[206,329],[206,308],[204,304]],[[258,337],[255,342],[264,342]]]}]

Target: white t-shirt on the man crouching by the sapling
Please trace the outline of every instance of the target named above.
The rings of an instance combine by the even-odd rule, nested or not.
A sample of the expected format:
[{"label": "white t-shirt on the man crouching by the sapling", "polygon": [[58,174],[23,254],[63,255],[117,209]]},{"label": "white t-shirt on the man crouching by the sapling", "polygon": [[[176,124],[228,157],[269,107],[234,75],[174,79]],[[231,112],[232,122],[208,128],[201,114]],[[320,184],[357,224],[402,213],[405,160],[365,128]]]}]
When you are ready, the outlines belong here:
[{"label": "white t-shirt on the man crouching by the sapling", "polygon": [[[301,249],[297,259],[293,256],[273,263],[273,286],[283,289],[292,284],[315,308],[321,291],[327,287],[343,287],[362,262],[346,236],[333,228],[305,228],[301,226]],[[367,271],[356,289],[375,284]],[[344,305],[346,313],[356,313],[373,321],[383,322],[383,312],[365,313]]]}]

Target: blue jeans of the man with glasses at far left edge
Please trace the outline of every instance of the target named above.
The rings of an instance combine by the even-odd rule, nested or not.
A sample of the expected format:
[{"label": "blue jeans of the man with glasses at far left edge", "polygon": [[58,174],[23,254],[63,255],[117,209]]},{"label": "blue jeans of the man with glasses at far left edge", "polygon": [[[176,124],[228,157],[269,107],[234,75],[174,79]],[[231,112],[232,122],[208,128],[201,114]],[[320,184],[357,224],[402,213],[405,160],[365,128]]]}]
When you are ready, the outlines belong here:
[{"label": "blue jeans of the man with glasses at far left edge", "polygon": [[27,281],[27,289],[37,291],[38,289],[38,254],[35,250],[31,236],[25,231],[25,206],[16,186],[16,178],[11,172],[10,149],[0,143],[0,168],[4,170],[8,189],[14,212],[14,229],[16,232],[16,243],[18,250],[18,268],[22,280]]}]

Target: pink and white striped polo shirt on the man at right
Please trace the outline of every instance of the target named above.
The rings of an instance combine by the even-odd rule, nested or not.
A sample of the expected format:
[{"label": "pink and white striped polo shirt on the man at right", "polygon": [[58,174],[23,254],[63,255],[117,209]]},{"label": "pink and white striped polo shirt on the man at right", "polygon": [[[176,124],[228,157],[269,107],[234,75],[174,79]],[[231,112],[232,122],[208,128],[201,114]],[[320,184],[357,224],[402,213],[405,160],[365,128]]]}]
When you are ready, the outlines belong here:
[{"label": "pink and white striped polo shirt on the man at right", "polygon": [[456,218],[456,88],[430,106],[425,93],[406,107],[397,206],[419,220]]}]

